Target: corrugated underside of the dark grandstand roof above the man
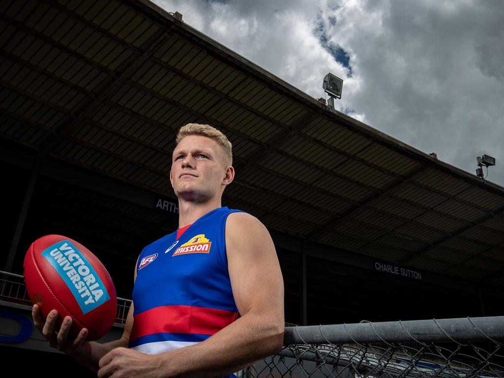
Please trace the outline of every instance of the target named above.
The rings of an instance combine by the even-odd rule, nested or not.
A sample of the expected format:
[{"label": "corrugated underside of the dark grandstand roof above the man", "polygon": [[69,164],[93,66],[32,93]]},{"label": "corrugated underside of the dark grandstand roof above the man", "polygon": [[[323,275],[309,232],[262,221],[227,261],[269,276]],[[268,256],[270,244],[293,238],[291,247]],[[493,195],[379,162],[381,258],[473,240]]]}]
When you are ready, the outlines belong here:
[{"label": "corrugated underside of the dark grandstand roof above the man", "polygon": [[292,235],[499,282],[503,188],[332,113],[146,0],[0,7],[2,138],[170,195],[176,130],[210,123],[233,143],[225,204]]}]

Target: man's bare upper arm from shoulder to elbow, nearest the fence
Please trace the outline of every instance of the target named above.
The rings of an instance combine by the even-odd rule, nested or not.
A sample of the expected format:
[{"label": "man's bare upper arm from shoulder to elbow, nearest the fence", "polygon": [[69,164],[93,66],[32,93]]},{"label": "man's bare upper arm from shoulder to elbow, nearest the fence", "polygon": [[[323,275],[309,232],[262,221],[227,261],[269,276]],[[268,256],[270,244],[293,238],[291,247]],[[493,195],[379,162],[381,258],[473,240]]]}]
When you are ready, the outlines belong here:
[{"label": "man's bare upper arm from shoulder to elbow, nearest the fence", "polygon": [[282,272],[266,227],[248,214],[230,214],[226,223],[226,249],[233,296],[240,315],[252,311],[283,323]]}]

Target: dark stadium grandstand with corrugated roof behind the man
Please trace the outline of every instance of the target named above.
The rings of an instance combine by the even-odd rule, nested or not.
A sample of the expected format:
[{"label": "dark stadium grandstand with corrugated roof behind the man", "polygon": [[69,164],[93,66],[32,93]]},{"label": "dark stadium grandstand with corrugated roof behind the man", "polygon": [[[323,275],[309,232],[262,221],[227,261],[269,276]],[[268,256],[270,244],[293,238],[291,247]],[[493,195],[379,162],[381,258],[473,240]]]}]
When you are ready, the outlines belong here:
[{"label": "dark stadium grandstand with corrugated roof behind the man", "polygon": [[73,363],[33,329],[24,293],[26,250],[46,234],[107,267],[124,298],[107,337],[120,334],[140,251],[178,226],[169,169],[188,122],[233,144],[223,205],[268,227],[288,323],[504,313],[504,188],[331,111],[148,0],[0,7],[5,356]]}]

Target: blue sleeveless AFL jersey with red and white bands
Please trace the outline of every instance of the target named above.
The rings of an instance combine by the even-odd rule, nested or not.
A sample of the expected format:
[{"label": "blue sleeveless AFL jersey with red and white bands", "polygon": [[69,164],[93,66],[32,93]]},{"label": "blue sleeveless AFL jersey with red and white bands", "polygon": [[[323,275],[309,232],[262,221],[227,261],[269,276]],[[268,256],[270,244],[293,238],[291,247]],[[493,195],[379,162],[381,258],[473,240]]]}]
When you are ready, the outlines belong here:
[{"label": "blue sleeveless AFL jersey with red and white bands", "polygon": [[142,250],[130,348],[157,354],[193,345],[236,320],[225,226],[238,211],[212,210],[181,235],[177,230]]}]

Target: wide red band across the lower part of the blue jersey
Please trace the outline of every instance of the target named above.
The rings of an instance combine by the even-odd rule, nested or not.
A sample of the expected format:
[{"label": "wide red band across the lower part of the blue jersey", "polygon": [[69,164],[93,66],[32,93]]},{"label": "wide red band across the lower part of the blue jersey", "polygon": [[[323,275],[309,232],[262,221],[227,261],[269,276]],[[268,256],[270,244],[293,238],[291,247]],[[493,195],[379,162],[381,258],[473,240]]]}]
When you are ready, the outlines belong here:
[{"label": "wide red band across the lower part of the blue jersey", "polygon": [[237,312],[208,307],[154,307],[135,315],[130,340],[156,333],[213,335],[237,317]]}]

